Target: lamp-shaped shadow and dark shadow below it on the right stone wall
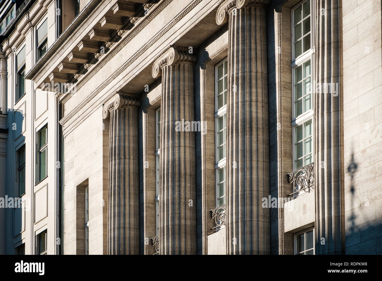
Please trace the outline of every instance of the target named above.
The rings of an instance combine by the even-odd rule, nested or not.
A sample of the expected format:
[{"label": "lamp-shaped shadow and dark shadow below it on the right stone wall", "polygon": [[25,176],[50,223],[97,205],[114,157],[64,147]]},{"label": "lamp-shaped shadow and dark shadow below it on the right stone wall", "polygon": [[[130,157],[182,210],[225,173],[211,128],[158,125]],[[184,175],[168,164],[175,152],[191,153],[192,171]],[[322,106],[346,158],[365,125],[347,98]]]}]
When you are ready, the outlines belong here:
[{"label": "lamp-shaped shadow and dark shadow below it on the right stone wall", "polygon": [[[350,223],[350,227],[346,227],[345,230],[345,253],[346,255],[376,255],[382,254],[382,218],[376,218],[366,223],[358,223],[357,218],[359,216],[365,219],[369,216],[370,210],[369,201],[365,201],[364,204],[358,206],[357,200],[360,200],[359,195],[356,195],[355,182],[356,171],[358,164],[354,159],[354,153],[351,153],[350,163],[346,167],[348,174],[350,175],[350,216],[346,217],[346,224]],[[376,205],[376,208],[380,206]],[[354,212],[359,210],[358,216]],[[371,210],[373,211],[373,210]],[[372,214],[371,214],[372,215]]]}]

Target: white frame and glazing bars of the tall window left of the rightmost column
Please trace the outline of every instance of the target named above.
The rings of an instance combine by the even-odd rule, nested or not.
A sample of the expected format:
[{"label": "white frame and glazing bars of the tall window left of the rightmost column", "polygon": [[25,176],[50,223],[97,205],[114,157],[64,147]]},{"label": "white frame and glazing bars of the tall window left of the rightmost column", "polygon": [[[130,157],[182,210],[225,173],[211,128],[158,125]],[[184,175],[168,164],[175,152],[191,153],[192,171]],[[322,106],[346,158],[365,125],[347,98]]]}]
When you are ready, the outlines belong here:
[{"label": "white frame and glazing bars of the tall window left of the rightmost column", "polygon": [[[295,143],[296,143],[296,128],[299,125],[302,125],[303,123],[309,121],[309,119],[312,120],[312,162],[314,162],[314,96],[315,96],[315,77],[314,77],[314,52],[315,52],[315,42],[314,42],[314,37],[315,37],[315,26],[314,26],[314,4],[315,0],[310,0],[310,19],[311,19],[311,31],[310,31],[310,37],[311,37],[311,48],[304,52],[303,54],[299,55],[298,57],[295,58],[295,44],[294,44],[294,16],[295,16],[295,10],[299,8],[299,6],[302,6],[305,2],[309,0],[304,0],[299,2],[294,8],[291,10],[291,29],[292,29],[292,40],[291,40],[291,45],[292,45],[292,63],[291,63],[291,68],[292,68],[292,146],[293,146],[293,171],[297,170],[296,166],[296,149],[295,149]],[[296,116],[296,108],[295,108],[295,69],[301,65],[303,65],[305,62],[308,60],[311,61],[311,109],[303,112],[303,114]],[[304,71],[304,69],[302,70]],[[302,73],[302,75],[304,75]],[[303,85],[304,86],[304,85]],[[304,100],[303,100],[304,101]],[[304,158],[303,158],[304,159]],[[304,161],[304,160],[303,160]],[[303,165],[304,167],[304,165]]]}]

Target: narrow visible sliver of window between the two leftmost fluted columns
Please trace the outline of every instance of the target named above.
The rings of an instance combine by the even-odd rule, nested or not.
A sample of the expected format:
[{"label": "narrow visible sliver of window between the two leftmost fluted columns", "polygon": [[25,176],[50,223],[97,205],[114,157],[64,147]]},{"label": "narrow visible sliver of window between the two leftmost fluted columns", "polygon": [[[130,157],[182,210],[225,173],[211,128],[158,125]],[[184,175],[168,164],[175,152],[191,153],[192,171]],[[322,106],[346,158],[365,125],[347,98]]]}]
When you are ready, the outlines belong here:
[{"label": "narrow visible sliver of window between the two leftmost fluted columns", "polygon": [[159,235],[159,192],[160,192],[160,107],[155,111],[155,226]]}]

